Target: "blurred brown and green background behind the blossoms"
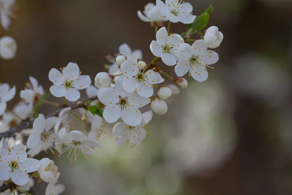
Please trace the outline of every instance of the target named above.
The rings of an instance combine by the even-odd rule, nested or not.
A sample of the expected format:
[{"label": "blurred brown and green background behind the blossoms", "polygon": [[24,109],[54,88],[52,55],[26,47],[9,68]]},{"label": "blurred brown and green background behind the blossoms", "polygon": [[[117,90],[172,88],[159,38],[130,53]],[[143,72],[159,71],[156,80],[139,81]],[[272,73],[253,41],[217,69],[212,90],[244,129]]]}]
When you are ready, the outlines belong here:
[{"label": "blurred brown and green background behind the blossoms", "polygon": [[[19,92],[33,76],[48,91],[49,70],[70,61],[93,80],[105,71],[105,56],[124,42],[152,60],[154,29],[137,17],[149,1],[155,3],[17,0],[18,18],[0,35],[14,37],[18,53],[0,59],[0,81]],[[164,116],[154,115],[141,146],[116,146],[109,127],[91,160],[69,165],[54,156],[64,195],[292,194],[292,0],[188,2],[194,15],[210,3],[215,7],[208,26],[224,34],[215,69],[203,83],[187,78],[189,87]],[[185,30],[182,23],[171,26],[173,33]],[[173,67],[159,65],[175,76]],[[45,186],[41,182],[31,193],[44,194]]]}]

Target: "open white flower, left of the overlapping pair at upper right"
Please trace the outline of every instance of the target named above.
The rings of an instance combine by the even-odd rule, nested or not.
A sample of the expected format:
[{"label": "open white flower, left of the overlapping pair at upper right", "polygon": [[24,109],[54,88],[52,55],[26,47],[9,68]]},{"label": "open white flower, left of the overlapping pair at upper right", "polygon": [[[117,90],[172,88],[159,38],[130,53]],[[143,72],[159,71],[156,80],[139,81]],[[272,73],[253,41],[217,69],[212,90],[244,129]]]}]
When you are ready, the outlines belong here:
[{"label": "open white flower, left of the overlapping pair at upper right", "polygon": [[160,57],[164,64],[173,66],[177,63],[178,54],[183,50],[183,38],[178,34],[168,36],[165,27],[160,28],[156,33],[156,40],[150,44],[150,50],[156,57]]}]

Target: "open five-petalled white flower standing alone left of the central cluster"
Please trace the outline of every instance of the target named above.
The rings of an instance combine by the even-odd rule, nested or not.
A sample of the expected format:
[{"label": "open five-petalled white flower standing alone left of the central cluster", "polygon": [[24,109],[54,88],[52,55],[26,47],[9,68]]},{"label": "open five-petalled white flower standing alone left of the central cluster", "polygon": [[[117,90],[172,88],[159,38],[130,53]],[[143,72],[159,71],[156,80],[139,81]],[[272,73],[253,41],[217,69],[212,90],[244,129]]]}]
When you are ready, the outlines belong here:
[{"label": "open five-petalled white flower standing alone left of the central cluster", "polygon": [[61,70],[62,73],[55,68],[50,70],[49,79],[54,83],[50,92],[57,98],[65,97],[69,101],[77,101],[80,98],[78,90],[86,89],[91,85],[90,76],[80,75],[78,65],[72,62]]}]

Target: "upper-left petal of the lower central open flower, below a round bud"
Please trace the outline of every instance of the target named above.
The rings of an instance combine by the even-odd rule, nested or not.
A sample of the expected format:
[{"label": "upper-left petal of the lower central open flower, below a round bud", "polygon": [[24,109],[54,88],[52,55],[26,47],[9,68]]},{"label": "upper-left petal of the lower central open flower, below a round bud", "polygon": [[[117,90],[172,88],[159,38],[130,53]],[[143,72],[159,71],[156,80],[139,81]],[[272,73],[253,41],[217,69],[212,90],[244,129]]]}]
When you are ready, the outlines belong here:
[{"label": "upper-left petal of the lower central open flower, below a round bud", "polygon": [[105,105],[116,104],[120,101],[119,92],[110,87],[99,89],[97,97],[99,101],[101,101]]}]

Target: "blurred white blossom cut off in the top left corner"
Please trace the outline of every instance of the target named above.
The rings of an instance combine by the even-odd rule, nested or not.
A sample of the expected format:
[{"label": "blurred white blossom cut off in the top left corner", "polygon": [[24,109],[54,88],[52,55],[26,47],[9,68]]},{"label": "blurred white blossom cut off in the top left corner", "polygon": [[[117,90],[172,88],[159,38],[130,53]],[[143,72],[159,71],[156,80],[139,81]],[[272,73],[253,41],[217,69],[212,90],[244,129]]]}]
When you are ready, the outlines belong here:
[{"label": "blurred white blossom cut off in the top left corner", "polygon": [[13,5],[15,0],[0,0],[1,26],[8,30],[11,24],[10,17],[14,17]]}]

